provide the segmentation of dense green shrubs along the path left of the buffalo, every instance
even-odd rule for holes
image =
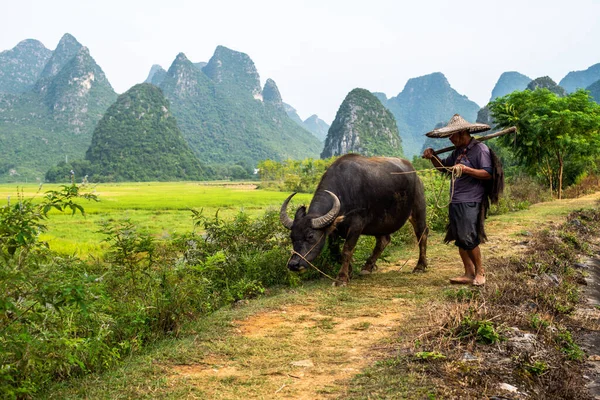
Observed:
[[[186,319],[296,282],[282,262],[289,239],[275,211],[256,220],[239,213],[232,222],[195,212],[204,234],[165,242],[128,220],[106,221],[102,259],[64,257],[42,246],[37,233],[47,212],[83,212],[73,202],[83,196],[72,185],[37,204],[21,198],[20,206],[1,209],[0,391],[9,398],[111,367],[176,335]]]

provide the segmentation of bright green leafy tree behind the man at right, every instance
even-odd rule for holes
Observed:
[[[517,127],[516,136],[499,142],[551,192],[556,187],[559,199],[564,183],[573,183],[600,153],[600,106],[585,90],[564,97],[547,89],[513,92],[490,103],[490,110],[498,128]]]

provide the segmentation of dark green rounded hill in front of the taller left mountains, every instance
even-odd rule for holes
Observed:
[[[94,182],[201,180],[192,153],[156,86],[144,83],[120,95],[98,122],[86,152]]]

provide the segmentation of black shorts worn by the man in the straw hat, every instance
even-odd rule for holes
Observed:
[[[465,250],[479,246],[479,211],[481,203],[450,203],[448,208],[448,236]]]

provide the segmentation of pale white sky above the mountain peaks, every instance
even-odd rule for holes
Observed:
[[[600,62],[600,0],[0,0],[0,10],[0,51],[24,39],[54,50],[70,33],[118,93],[179,52],[208,61],[226,46],[302,119],[329,124],[356,87],[390,98],[442,72],[483,106],[502,72],[558,83]]]

